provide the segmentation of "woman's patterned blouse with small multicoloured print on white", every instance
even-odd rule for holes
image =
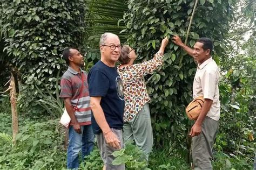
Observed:
[[[144,76],[163,65],[163,56],[163,53],[157,52],[149,61],[124,68],[118,66],[117,70],[123,81],[125,94],[124,122],[130,121],[143,108],[144,104],[150,101]]]

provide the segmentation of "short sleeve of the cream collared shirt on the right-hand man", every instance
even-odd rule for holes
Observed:
[[[219,76],[214,70],[206,70],[201,80],[204,98],[213,100],[216,86],[218,86]]]

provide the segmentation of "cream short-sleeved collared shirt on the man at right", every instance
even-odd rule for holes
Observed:
[[[213,101],[206,116],[215,121],[220,118],[219,78],[219,68],[215,61],[210,58],[197,67],[193,82],[193,98],[204,96],[204,98]]]

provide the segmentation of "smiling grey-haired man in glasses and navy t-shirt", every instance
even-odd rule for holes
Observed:
[[[92,128],[104,161],[103,169],[122,170],[124,164],[112,165],[112,153],[123,148],[124,93],[115,66],[120,56],[120,40],[116,34],[104,33],[99,46],[101,58],[88,75]]]

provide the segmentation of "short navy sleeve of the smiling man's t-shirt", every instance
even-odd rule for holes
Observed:
[[[91,97],[106,96],[109,90],[109,79],[99,70],[91,70],[88,75],[89,93]]]

